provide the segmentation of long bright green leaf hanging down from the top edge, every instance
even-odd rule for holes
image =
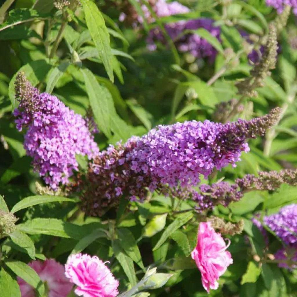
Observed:
[[[113,81],[110,38],[104,18],[97,5],[89,0],[83,1],[83,10],[85,12],[86,24],[98,50],[99,57],[107,71],[108,77]]]

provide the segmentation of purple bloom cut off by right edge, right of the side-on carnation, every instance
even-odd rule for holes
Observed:
[[[284,206],[277,214],[264,217],[263,222],[285,244],[297,247],[297,204]]]

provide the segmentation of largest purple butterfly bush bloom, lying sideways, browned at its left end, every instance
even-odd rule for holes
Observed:
[[[146,188],[163,192],[168,186],[189,187],[240,160],[249,151],[247,139],[264,135],[279,115],[279,108],[250,121],[234,123],[186,121],[159,125],[142,137],[132,137],[100,152],[92,162],[82,209],[96,215],[117,204],[122,195],[146,198]],[[195,195],[197,199],[197,195]]]

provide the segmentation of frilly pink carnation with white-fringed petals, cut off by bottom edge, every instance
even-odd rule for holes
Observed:
[[[87,254],[69,256],[65,275],[78,287],[75,293],[83,297],[115,297],[119,282],[98,257]]]

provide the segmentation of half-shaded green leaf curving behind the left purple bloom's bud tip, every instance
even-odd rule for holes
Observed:
[[[36,60],[24,65],[18,70],[18,72],[23,71],[30,83],[33,86],[36,86],[38,83],[45,80],[50,68],[51,66],[46,61]],[[12,77],[8,86],[8,96],[13,107],[17,106],[17,103],[15,102],[15,78],[18,72],[16,72]]]

